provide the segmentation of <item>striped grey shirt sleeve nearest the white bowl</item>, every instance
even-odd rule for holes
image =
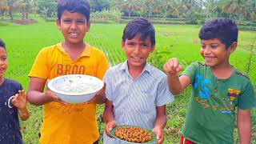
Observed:
[[[107,70],[104,75],[103,82],[106,82],[106,98],[110,101],[113,101],[113,90],[112,90],[112,72]]]

